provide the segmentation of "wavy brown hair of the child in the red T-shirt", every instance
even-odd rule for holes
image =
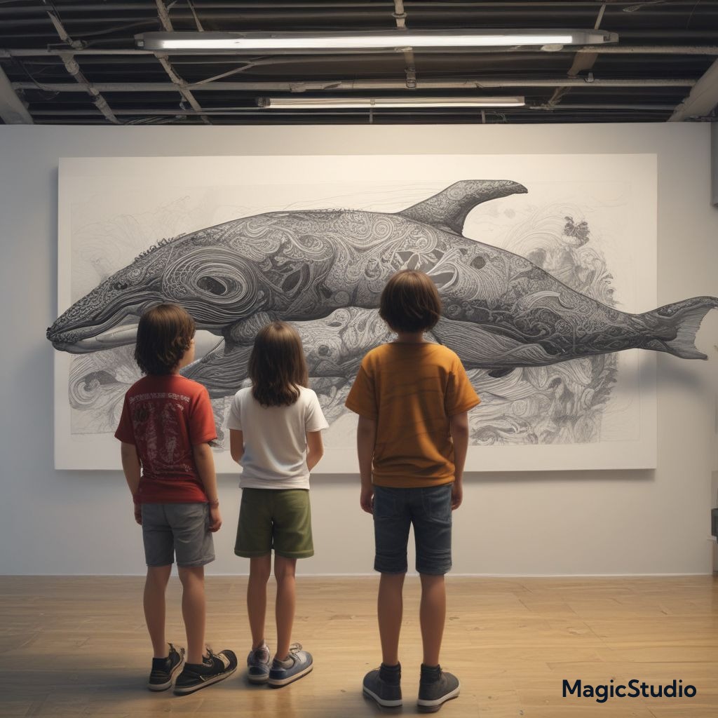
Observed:
[[[195,336],[195,320],[177,304],[148,309],[137,326],[135,361],[144,374],[171,374]]]

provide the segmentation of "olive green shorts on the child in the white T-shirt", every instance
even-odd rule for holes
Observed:
[[[234,552],[286,559],[314,556],[308,489],[242,489]]]

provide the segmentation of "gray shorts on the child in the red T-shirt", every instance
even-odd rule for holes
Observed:
[[[142,539],[148,566],[204,566],[215,560],[206,503],[143,503]]]

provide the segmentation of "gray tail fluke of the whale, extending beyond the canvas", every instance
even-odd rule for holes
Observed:
[[[718,309],[718,297],[692,297],[641,314],[649,330],[653,330],[642,348],[682,359],[707,359],[696,349],[695,342],[703,317],[711,309]]]

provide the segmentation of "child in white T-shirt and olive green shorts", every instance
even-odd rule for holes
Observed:
[[[276,688],[312,670],[312,656],[299,643],[289,645],[289,639],[297,559],[314,555],[309,472],[324,454],[322,429],[329,424],[317,395],[307,388],[302,340],[288,324],[273,322],[258,332],[248,371],[252,386],[236,393],[227,424],[232,458],[243,467],[234,552],[249,559],[248,679]],[[264,616],[271,549],[277,645],[270,667]]]

